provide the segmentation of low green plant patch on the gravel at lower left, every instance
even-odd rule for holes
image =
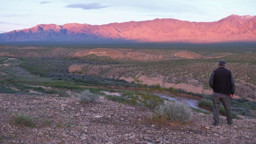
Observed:
[[[18,114],[14,116],[14,125],[30,126],[30,127],[35,126],[31,118],[29,118],[28,116],[24,116],[22,114]]]

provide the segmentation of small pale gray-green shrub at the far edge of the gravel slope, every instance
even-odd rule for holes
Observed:
[[[80,103],[95,103],[99,97],[93,93],[90,93],[89,90],[85,90],[78,95],[78,98]]]

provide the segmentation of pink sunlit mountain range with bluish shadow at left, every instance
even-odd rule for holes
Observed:
[[[163,18],[90,25],[38,24],[0,34],[9,41],[130,41],[130,42],[234,42],[256,41],[256,16],[230,15],[215,22],[189,22]]]

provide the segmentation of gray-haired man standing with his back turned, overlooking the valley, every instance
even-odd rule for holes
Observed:
[[[231,114],[231,98],[235,96],[235,82],[232,75],[228,69],[226,69],[226,62],[224,60],[219,60],[219,68],[212,71],[209,85],[213,89],[213,116],[214,116],[214,125],[219,125],[219,110],[220,110],[220,101],[224,105],[226,111],[227,122],[229,125],[233,123],[232,114]]]

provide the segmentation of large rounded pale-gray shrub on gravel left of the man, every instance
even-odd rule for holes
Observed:
[[[158,105],[154,109],[154,113],[157,120],[167,122],[188,123],[192,119],[192,112],[189,107],[175,102]]]

